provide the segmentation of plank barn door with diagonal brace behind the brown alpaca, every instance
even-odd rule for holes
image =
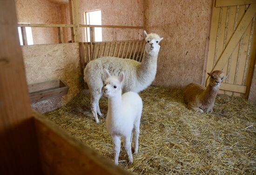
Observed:
[[[228,78],[221,94],[247,95],[256,52],[256,0],[216,0],[213,7],[207,72],[222,70]],[[209,76],[206,76],[206,85]]]

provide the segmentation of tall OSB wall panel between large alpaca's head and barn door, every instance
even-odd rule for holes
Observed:
[[[144,0],[144,27],[163,37],[154,84],[202,82],[211,0]],[[152,13],[154,12],[154,13]]]

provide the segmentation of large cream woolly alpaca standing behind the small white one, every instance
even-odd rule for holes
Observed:
[[[157,57],[160,46],[159,42],[163,39],[158,34],[147,34],[144,31],[146,40],[145,57],[142,62],[131,59],[116,57],[101,57],[90,61],[84,70],[84,81],[87,82],[91,94],[92,112],[96,123],[99,123],[97,112],[102,116],[99,100],[102,96],[103,80],[106,79],[104,69],[112,75],[119,75],[124,72],[126,79],[122,83],[123,92],[140,92],[154,81],[157,67]]]

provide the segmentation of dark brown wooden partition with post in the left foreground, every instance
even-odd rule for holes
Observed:
[[[32,113],[14,0],[0,1],[0,175],[128,175]]]

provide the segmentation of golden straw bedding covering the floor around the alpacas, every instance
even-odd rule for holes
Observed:
[[[211,114],[186,108],[182,90],[149,87],[143,100],[139,152],[128,163],[121,148],[119,164],[134,174],[254,174],[256,105],[243,97],[218,95]],[[111,136],[92,119],[90,95],[79,94],[46,117],[113,160]],[[107,114],[108,99],[102,97]]]

